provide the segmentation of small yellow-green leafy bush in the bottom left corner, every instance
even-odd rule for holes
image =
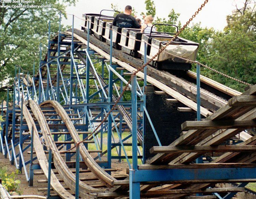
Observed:
[[[7,189],[9,193],[15,191],[18,194],[21,194],[21,181],[15,180],[16,175],[19,174],[19,172],[19,170],[16,170],[15,172],[8,174],[7,169],[5,167],[0,168],[0,178],[2,179],[2,185]]]

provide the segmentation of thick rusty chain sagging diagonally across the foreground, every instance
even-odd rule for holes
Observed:
[[[195,18],[195,16],[202,10],[202,8],[205,6],[205,4],[208,2],[209,0],[205,0],[204,3],[200,6],[200,8],[195,12],[195,14],[189,19],[189,21],[187,21],[187,23],[174,35],[174,37],[165,44],[165,46],[162,49],[159,49],[159,51],[151,58],[149,59],[148,62],[146,62],[145,64],[143,64],[140,68],[138,68],[136,71],[132,72],[132,75],[136,75],[138,72],[140,72],[143,68],[145,68],[145,66],[149,65],[161,52],[163,52],[168,45],[170,45],[170,43],[172,41],[174,41],[179,34],[190,24],[190,22],[193,20],[193,18]],[[132,78],[132,77],[131,77]],[[89,137],[91,137],[101,126],[101,124],[103,124],[103,122],[106,121],[106,119],[108,118],[108,116],[111,114],[111,112],[114,110],[114,108],[116,107],[117,103],[120,101],[121,97],[124,95],[125,91],[127,90],[129,84],[131,83],[131,78],[129,79],[128,83],[126,84],[124,90],[122,91],[122,93],[120,94],[120,96],[118,97],[118,99],[116,100],[115,104],[112,106],[112,108],[110,109],[110,111],[107,113],[107,115],[105,116],[105,118],[101,121],[101,123],[98,125],[98,127],[96,129],[94,129],[94,131],[89,134],[85,139],[83,139],[80,142],[77,142],[75,146],[71,147],[70,149],[66,150],[66,151],[61,151],[60,153],[66,153],[74,148],[76,148],[77,145],[83,143],[84,141],[86,141]]]

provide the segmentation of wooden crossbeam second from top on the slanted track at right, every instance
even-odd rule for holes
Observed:
[[[192,129],[251,129],[254,127],[256,127],[255,120],[185,121],[181,124],[182,131]]]

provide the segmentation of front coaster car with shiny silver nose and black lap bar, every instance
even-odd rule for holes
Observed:
[[[153,24],[153,26],[155,25],[174,26],[177,28],[176,32],[178,32],[178,27],[172,24]],[[165,44],[173,38],[172,35],[175,35],[175,33],[168,32],[152,32],[152,28],[150,35],[142,35],[142,42],[140,50],[138,51],[138,53],[141,54],[141,59],[144,59],[144,41],[152,45],[147,45],[147,62],[155,56],[159,49],[162,49]],[[153,59],[152,65],[157,69],[189,70],[191,69],[191,62],[177,58],[174,55],[195,61],[198,47],[199,43],[177,37],[162,53]]]

